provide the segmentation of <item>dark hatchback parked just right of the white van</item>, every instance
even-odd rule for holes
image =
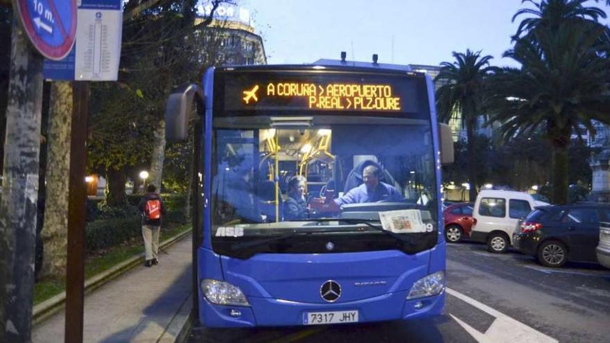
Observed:
[[[547,267],[598,262],[600,222],[609,220],[610,206],[604,204],[539,206],[519,221],[513,246]]]

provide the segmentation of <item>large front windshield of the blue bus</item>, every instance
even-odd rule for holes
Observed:
[[[237,253],[247,242],[250,254],[329,252],[332,240],[345,242],[342,252],[415,253],[436,243],[429,119],[221,116],[214,118],[213,141],[217,252]],[[385,220],[385,213],[416,219]],[[423,229],[410,227],[416,223]],[[397,235],[384,235],[388,226]]]

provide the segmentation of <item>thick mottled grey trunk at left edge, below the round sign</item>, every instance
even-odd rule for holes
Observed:
[[[13,19],[0,200],[0,342],[29,342],[38,199],[42,56]]]

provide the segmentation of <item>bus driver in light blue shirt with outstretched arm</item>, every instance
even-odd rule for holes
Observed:
[[[362,202],[401,201],[403,196],[394,186],[379,181],[381,169],[376,166],[366,166],[363,170],[363,184],[351,188],[342,197],[333,200],[338,206],[358,204]]]

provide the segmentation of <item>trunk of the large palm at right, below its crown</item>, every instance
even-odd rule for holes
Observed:
[[[570,127],[557,127],[555,123],[548,124],[548,137],[552,147],[552,203],[568,203],[568,146],[570,144]]]

